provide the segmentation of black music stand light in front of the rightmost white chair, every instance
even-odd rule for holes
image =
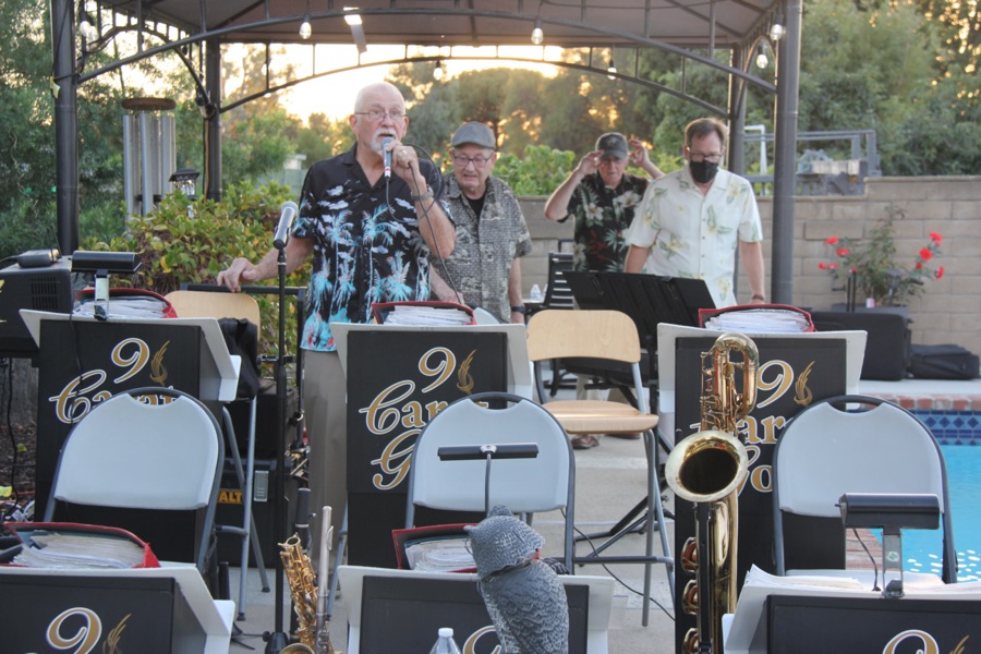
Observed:
[[[846,528],[882,529],[883,597],[903,596],[905,529],[937,529],[940,499],[931,494],[846,493],[838,499]],[[887,580],[886,573],[894,579]]]

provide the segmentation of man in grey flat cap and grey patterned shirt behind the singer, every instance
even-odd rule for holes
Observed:
[[[453,254],[431,258],[433,293],[440,300],[480,306],[501,323],[524,323],[521,262],[532,250],[518,198],[504,181],[491,177],[497,140],[487,125],[468,122],[451,142],[452,172],[446,193],[457,227]]]

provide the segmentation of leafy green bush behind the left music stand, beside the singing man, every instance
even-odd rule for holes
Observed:
[[[129,283],[166,295],[185,282],[214,282],[237,256],[261,259],[269,250],[279,207],[289,198],[289,189],[275,183],[259,189],[231,184],[221,202],[198,199],[189,204],[178,192],[160,201],[152,214],[131,218],[124,235],[108,241],[88,238],[83,247],[137,253],[143,265]],[[306,272],[298,270],[287,278],[287,286],[305,286],[305,279]],[[278,299],[256,295],[256,301],[263,313],[261,340],[267,351],[275,351]],[[295,311],[292,303],[289,311]],[[287,336],[292,351],[295,334]]]

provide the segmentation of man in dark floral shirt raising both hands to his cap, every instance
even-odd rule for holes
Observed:
[[[627,172],[628,160],[652,180],[664,177],[647,156],[644,144],[608,132],[596,148],[580,160],[545,203],[545,217],[565,222],[573,218],[573,267],[577,270],[622,272],[623,241],[633,213],[647,190],[646,178]]]

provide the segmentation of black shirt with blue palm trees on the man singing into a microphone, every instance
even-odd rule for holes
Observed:
[[[376,302],[429,299],[429,249],[409,185],[396,175],[368,184],[356,147],[317,161],[303,182],[292,234],[314,242],[300,343],[306,350],[335,351],[330,324],[370,323]],[[428,186],[440,189],[436,167],[420,167]]]

